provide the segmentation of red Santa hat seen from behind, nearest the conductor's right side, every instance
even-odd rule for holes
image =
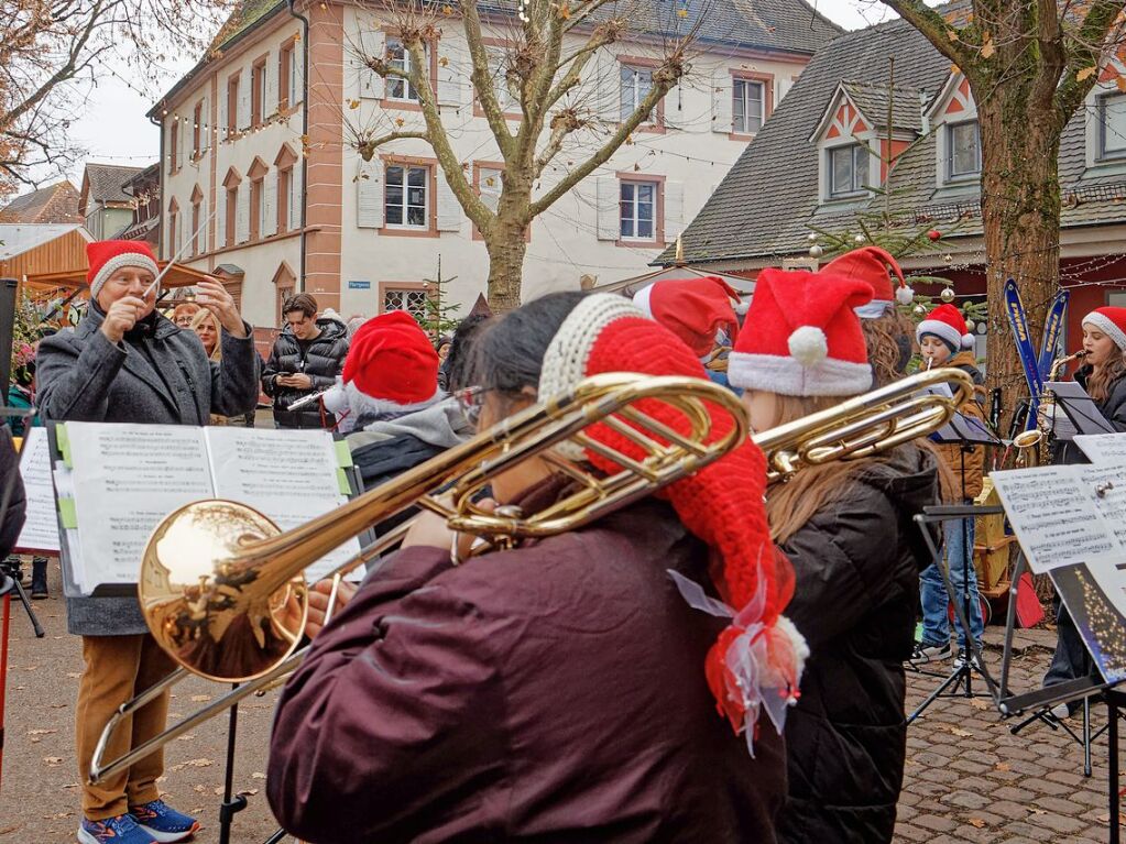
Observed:
[[[421,404],[438,392],[438,353],[414,317],[391,311],[356,330],[343,381],[349,401],[366,396],[399,406]]]

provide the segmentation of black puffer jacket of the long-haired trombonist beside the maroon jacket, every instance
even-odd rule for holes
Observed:
[[[786,721],[792,844],[890,842],[903,784],[903,661],[930,562],[912,518],[939,501],[937,463],[905,446],[846,483],[781,546],[797,578],[786,614],[811,650]]]

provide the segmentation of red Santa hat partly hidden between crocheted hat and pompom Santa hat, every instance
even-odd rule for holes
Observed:
[[[712,352],[720,329],[734,342],[739,320],[733,299],[738,302],[739,294],[715,276],[654,281],[634,294],[634,304],[680,338],[697,358]]]

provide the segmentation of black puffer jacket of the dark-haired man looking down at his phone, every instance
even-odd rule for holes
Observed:
[[[283,428],[321,428],[321,408],[319,403],[307,404],[296,411],[287,411],[291,404],[310,393],[331,387],[345,366],[348,353],[348,329],[338,320],[322,316],[316,321],[321,330],[316,340],[304,348],[293,335],[287,325],[274,341],[274,351],[262,370],[262,392],[274,399],[274,420]],[[313,379],[310,389],[294,389],[275,385],[279,375],[303,372]],[[336,419],[329,414],[325,417],[329,427],[336,424]]]

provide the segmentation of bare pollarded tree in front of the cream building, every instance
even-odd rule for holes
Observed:
[[[352,143],[366,161],[393,141],[417,138],[430,145],[454,196],[484,240],[490,306],[516,307],[527,250],[525,233],[531,221],[631,143],[632,134],[689,73],[689,50],[703,15],[687,23],[674,3],[668,5],[668,20],[656,27],[661,32],[649,33],[659,45],[649,90],[628,114],[606,120],[599,116],[605,108],[599,108],[592,79],[596,56],[626,36],[631,20],[637,19],[633,14],[637,7],[613,0],[520,0],[512,15],[499,16],[495,7],[486,11],[477,0],[376,3],[366,5],[392,25],[396,51],[401,45],[402,53],[372,51],[361,37],[350,50],[385,84],[409,84],[417,92],[422,119],[421,125],[411,126],[385,115],[372,125],[352,122]],[[457,26],[464,33],[467,75],[503,161],[495,207],[474,189],[431,86],[428,51],[443,26]],[[618,109],[617,93],[614,98]]]

